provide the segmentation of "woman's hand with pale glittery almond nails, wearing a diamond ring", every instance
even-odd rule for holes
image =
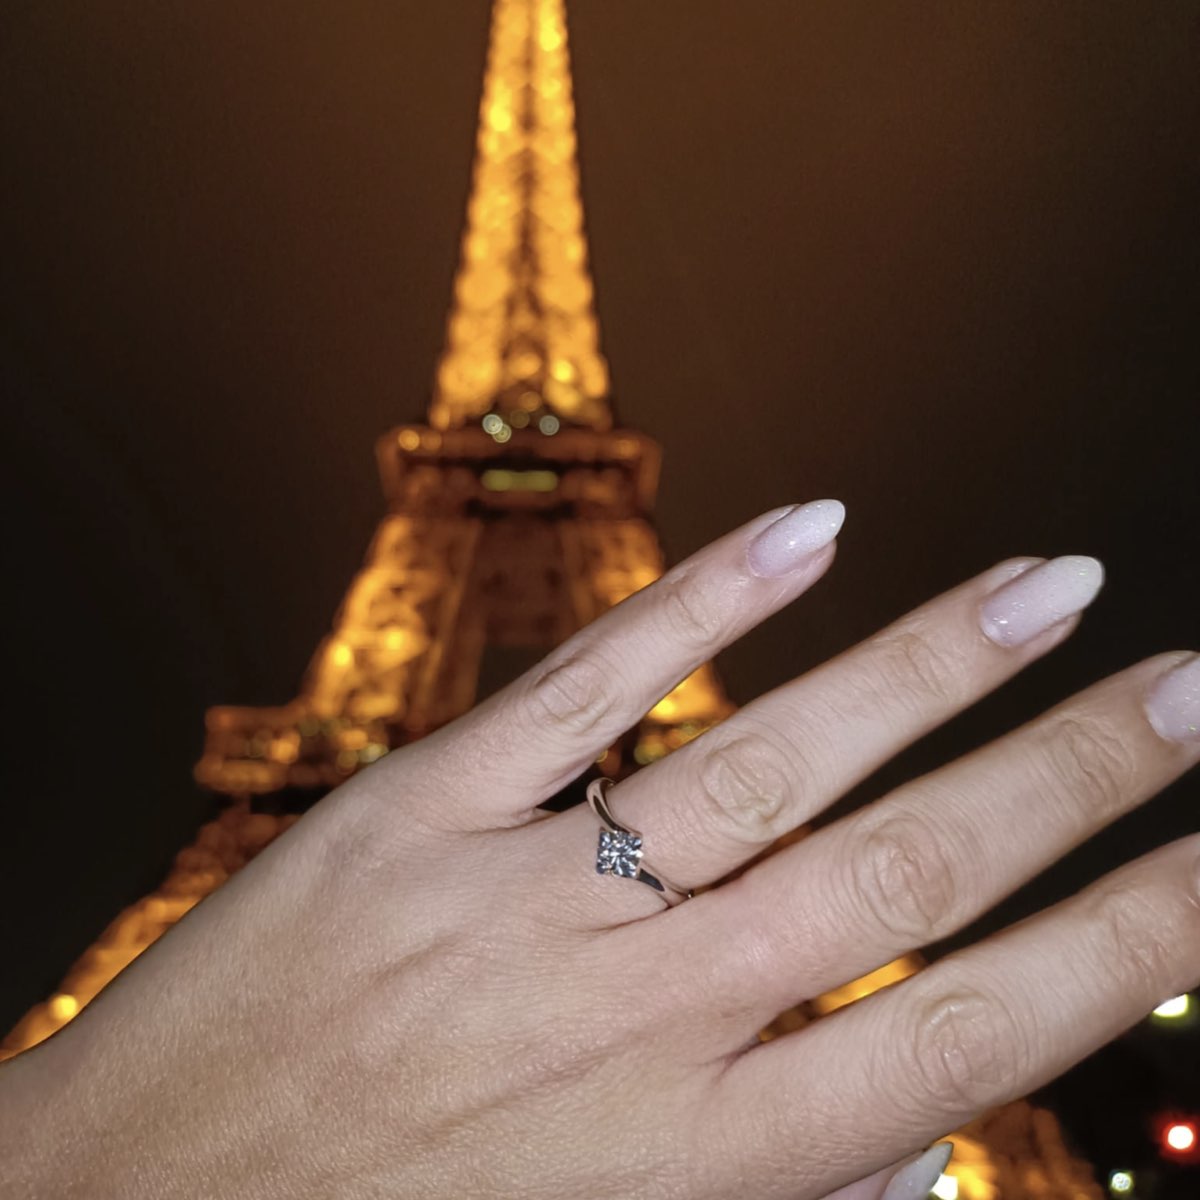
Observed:
[[[586,805],[539,809],[816,582],[840,518],[750,522],[322,800],[0,1072],[5,1196],[877,1200],[902,1156],[1194,986],[1200,836],[755,1040],[1192,767],[1188,654],[676,907],[596,874]],[[1061,642],[1099,583],[1093,559],[1002,563],[617,785],[612,811],[649,870],[712,884]]]

